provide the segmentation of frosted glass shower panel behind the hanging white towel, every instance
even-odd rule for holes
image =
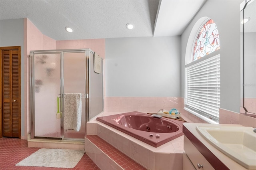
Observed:
[[[64,138],[82,138],[86,134],[85,117],[85,72],[86,60],[85,52],[82,53],[64,53],[63,54],[63,78],[65,93],[82,93],[82,122],[79,132],[75,130],[65,130]],[[64,113],[65,114],[65,113]]]

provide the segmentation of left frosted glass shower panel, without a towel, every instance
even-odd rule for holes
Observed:
[[[34,136],[60,138],[56,119],[60,94],[60,53],[34,55]]]

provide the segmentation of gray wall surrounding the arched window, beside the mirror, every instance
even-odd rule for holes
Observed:
[[[242,0],[208,0],[181,38],[181,95],[184,97],[184,63],[190,32],[198,19],[210,17],[220,35],[220,107],[239,113],[240,107],[240,3]]]

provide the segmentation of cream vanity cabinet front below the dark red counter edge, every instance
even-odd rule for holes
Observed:
[[[184,135],[183,170],[214,170],[197,148]],[[201,167],[202,166],[202,167]]]

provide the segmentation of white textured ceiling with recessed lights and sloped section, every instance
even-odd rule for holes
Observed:
[[[176,36],[204,1],[0,0],[0,19],[28,18],[54,40]],[[127,30],[127,23],[135,28]]]

